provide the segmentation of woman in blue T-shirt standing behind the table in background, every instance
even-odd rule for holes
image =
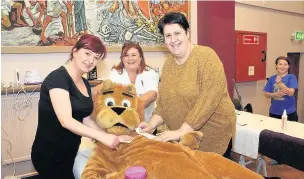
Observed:
[[[290,62],[287,57],[280,56],[275,61],[277,74],[267,81],[264,87],[265,96],[271,98],[269,116],[281,119],[286,110],[289,121],[298,121],[295,90],[298,89],[297,78],[288,74]]]

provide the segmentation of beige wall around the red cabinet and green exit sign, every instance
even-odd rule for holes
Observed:
[[[254,3],[254,2],[253,2]],[[268,4],[270,2],[267,2]],[[294,3],[271,2],[272,7],[281,7],[291,10]],[[260,3],[261,4],[261,3]],[[291,34],[296,30],[304,31],[304,2],[298,2],[299,8],[296,11],[302,13],[286,12],[282,9],[275,10],[266,7],[258,7],[243,3],[236,3],[235,8],[235,29],[244,31],[266,32],[267,33],[267,64],[266,77],[275,74],[275,59],[278,56],[287,56],[288,52],[304,52],[304,42],[290,40]],[[261,5],[262,6],[262,5]],[[303,58],[302,58],[303,59]],[[300,74],[303,74],[304,60],[300,61]],[[299,75],[299,102],[303,98],[304,84]],[[304,78],[302,76],[302,78]],[[238,83],[240,95],[244,104],[252,103],[254,112],[268,115],[270,101],[263,96],[263,87],[266,80],[257,82]],[[302,90],[301,90],[302,89]],[[301,104],[302,105],[302,104]],[[300,107],[302,110],[303,107]],[[302,111],[298,111],[301,115]],[[302,117],[303,118],[303,117]]]

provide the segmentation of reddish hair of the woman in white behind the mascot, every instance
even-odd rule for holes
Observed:
[[[126,42],[126,43],[124,43],[124,45],[122,46],[122,49],[121,49],[120,63],[118,65],[114,65],[112,67],[112,69],[117,70],[120,74],[122,73],[122,70],[124,68],[124,64],[122,62],[122,58],[127,54],[127,52],[131,48],[135,48],[138,51],[139,56],[141,57],[140,66],[139,66],[139,69],[137,70],[137,74],[140,74],[144,70],[147,70],[146,68],[149,67],[149,66],[146,65],[146,61],[145,61],[145,57],[144,57],[144,52],[143,52],[142,48],[140,47],[140,45],[138,43],[136,43],[136,42]]]

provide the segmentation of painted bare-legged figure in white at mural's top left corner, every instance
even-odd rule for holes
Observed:
[[[12,14],[12,9],[16,9],[16,14]],[[11,17],[10,17],[11,15]],[[22,4],[20,2],[14,2],[12,0],[1,0],[1,26],[9,28],[12,26],[12,20],[16,19],[16,26],[26,26],[21,20]],[[16,17],[17,16],[17,17]]]

